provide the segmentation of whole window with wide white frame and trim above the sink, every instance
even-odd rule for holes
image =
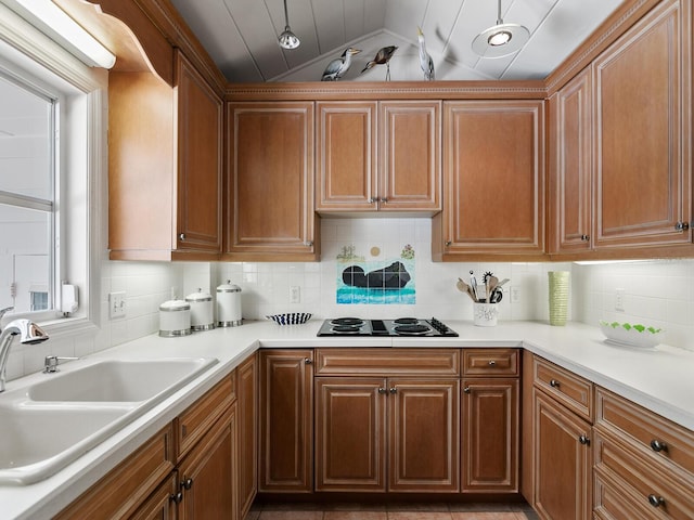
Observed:
[[[16,308],[0,326],[30,317],[55,338],[100,324],[108,76],[42,30],[0,0],[0,309]]]

